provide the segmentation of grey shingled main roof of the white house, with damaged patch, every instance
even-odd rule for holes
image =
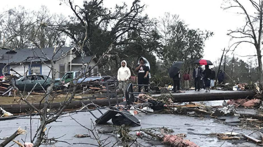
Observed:
[[[54,56],[54,60],[60,58],[63,54],[67,53],[73,47],[57,47],[56,48],[56,55]],[[46,54],[46,56],[51,59],[54,52],[54,47],[51,48],[42,48],[42,51]],[[16,49],[16,50],[9,50],[9,49],[1,49],[0,50],[0,63],[7,64],[11,62],[19,63],[19,62],[31,62],[32,58],[28,57],[43,57],[41,58],[42,61],[46,61],[44,59],[44,55],[42,54],[39,48],[35,49]],[[28,59],[27,59],[28,58]],[[34,62],[40,62],[39,58],[34,59]]]

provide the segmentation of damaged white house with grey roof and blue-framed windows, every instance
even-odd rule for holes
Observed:
[[[42,48],[42,51],[49,59],[52,59],[55,48]],[[74,47],[56,48],[56,54],[53,57],[55,62],[56,78],[61,78],[69,71],[80,71],[82,67],[82,57]],[[85,70],[92,68],[97,58],[91,56],[84,57]],[[8,64],[7,66],[5,66]],[[27,75],[41,74],[50,76],[51,64],[48,59],[42,54],[41,49],[2,49],[0,50],[0,76],[3,76],[2,71],[10,74]],[[13,70],[10,70],[13,69]],[[98,66],[94,67],[88,74],[96,75]]]

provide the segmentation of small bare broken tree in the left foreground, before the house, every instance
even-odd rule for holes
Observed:
[[[46,130],[46,125],[47,124],[50,124],[54,121],[56,121],[56,119],[58,119],[61,115],[63,115],[63,111],[67,108],[67,106],[71,103],[71,101],[73,100],[75,94],[77,93],[77,88],[81,85],[81,83],[77,83],[75,82],[75,84],[72,85],[72,93],[69,95],[69,98],[66,99],[64,101],[64,103],[61,105],[61,107],[59,107],[57,110],[55,110],[54,114],[49,114],[48,113],[48,108],[51,106],[51,103],[52,101],[54,100],[54,98],[56,98],[58,96],[59,93],[56,93],[57,89],[59,87],[54,87],[54,83],[55,83],[55,74],[56,74],[56,69],[54,67],[54,63],[58,60],[60,60],[61,58],[64,58],[66,56],[63,55],[62,57],[60,58],[55,58],[54,59],[54,56],[56,55],[56,53],[58,53],[58,51],[60,50],[60,47],[56,47],[55,46],[55,50],[53,52],[53,57],[52,58],[49,58],[45,53],[44,51],[42,50],[41,46],[38,44],[39,42],[34,42],[34,38],[37,36],[38,32],[41,31],[41,27],[42,25],[45,25],[43,23],[41,23],[37,28],[36,28],[36,31],[35,33],[33,34],[33,39],[30,40],[31,42],[33,42],[33,44],[35,46],[37,46],[41,52],[42,52],[42,55],[38,55],[38,56],[35,56],[35,57],[28,57],[27,61],[28,60],[34,60],[36,58],[39,58],[41,60],[41,62],[43,64],[46,64],[46,62],[49,62],[50,63],[50,66],[47,66],[50,68],[50,73],[51,73],[51,77],[52,77],[52,80],[51,80],[51,86],[50,87],[53,87],[53,88],[50,88],[48,89],[47,92],[45,92],[45,95],[43,96],[43,98],[41,99],[41,101],[39,102],[39,108],[41,108],[41,105],[44,105],[44,109],[40,110],[40,109],[37,109],[36,107],[34,107],[34,105],[32,105],[29,101],[27,101],[27,97],[30,95],[30,93],[34,90],[34,87],[33,89],[31,90],[31,92],[27,95],[27,96],[24,96],[23,92],[21,92],[15,85],[15,83],[12,81],[12,76],[6,76],[6,78],[10,81],[10,83],[12,84],[12,86],[15,88],[15,90],[18,92],[19,94],[19,97],[22,101],[24,101],[25,103],[27,103],[27,105],[29,105],[34,111],[38,112],[39,115],[40,115],[40,126],[39,128],[37,129],[37,133],[35,134],[35,136],[33,137],[32,141],[35,140],[34,142],[34,147],[38,147],[42,144],[42,141],[45,137],[45,130]],[[85,33],[87,35],[87,32]],[[56,40],[59,40],[56,38]],[[86,40],[86,37],[85,37],[85,40]],[[85,40],[83,40],[82,42],[85,42]],[[83,52],[83,44],[76,44],[76,46],[78,47],[78,51],[80,52]],[[96,65],[98,65],[100,62],[101,62],[101,59],[108,53],[108,51],[111,49],[111,46],[108,47],[108,49],[105,51],[105,53],[103,54],[103,56],[98,60],[98,62],[89,70],[87,70],[86,72],[84,72],[84,70],[82,69],[81,71],[81,74],[79,74],[76,78],[74,78],[72,81],[76,81],[78,80],[79,78],[82,78],[86,75],[86,73],[90,72],[94,67],[96,67]],[[84,56],[83,53],[81,53],[82,56]],[[40,57],[41,56],[41,57]],[[46,62],[44,62],[46,61]],[[6,64],[7,66],[8,64]],[[84,63],[82,63],[82,65],[84,65]],[[83,67],[83,66],[82,66]],[[68,83],[72,82],[72,81],[69,81]],[[66,83],[67,84],[67,83]],[[52,94],[51,96],[51,93],[54,93],[55,94]],[[35,139],[36,138],[36,139]]]

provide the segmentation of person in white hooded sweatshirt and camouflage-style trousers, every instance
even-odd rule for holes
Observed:
[[[129,83],[129,78],[131,77],[131,71],[127,67],[127,63],[125,60],[121,62],[122,67],[119,68],[118,70],[118,81],[119,81],[119,89],[120,92],[124,95],[125,97],[125,89],[127,84]]]

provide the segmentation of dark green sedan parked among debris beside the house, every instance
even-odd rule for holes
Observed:
[[[25,78],[22,77],[15,81],[15,85],[18,87],[19,90],[30,91],[34,90],[49,90],[51,85],[51,78],[45,75],[28,75]]]

